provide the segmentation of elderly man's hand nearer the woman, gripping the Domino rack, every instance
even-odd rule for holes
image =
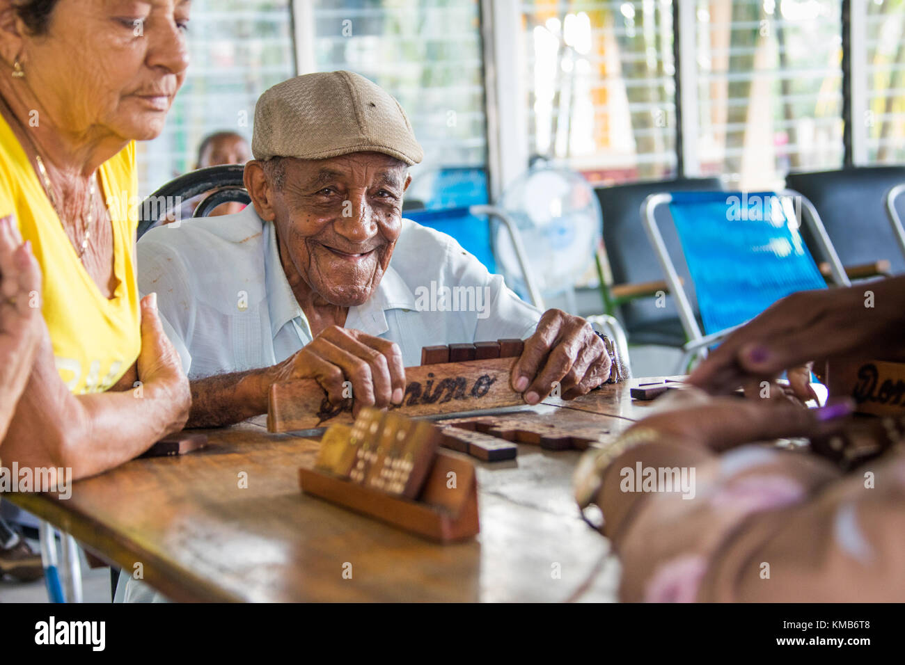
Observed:
[[[342,404],[351,394],[354,414],[363,406],[384,409],[402,404],[405,394],[405,366],[399,346],[339,326],[325,328],[309,345],[273,366],[266,378],[268,385],[315,379],[331,404]]]

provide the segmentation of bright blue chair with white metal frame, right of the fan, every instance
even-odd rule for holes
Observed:
[[[800,204],[805,214],[800,214],[795,204]],[[654,216],[660,205],[669,207],[681,241],[681,257],[671,257],[663,242]],[[776,300],[795,291],[826,288],[799,233],[801,217],[829,261],[834,282],[848,286],[819,216],[810,202],[795,192],[674,192],[644,200],[644,229],[689,339],[682,348],[683,361],[695,354],[706,355],[707,347]],[[683,288],[675,261],[684,262],[691,292]]]

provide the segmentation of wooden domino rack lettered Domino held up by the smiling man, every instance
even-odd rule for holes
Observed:
[[[405,368],[405,397],[394,410],[409,417],[525,404],[510,386],[515,358],[489,358]],[[352,423],[351,400],[334,406],[313,379],[271,385],[270,432]]]

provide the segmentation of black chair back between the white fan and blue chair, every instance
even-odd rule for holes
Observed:
[[[660,192],[721,191],[719,178],[680,178],[633,185],[597,187],[604,219],[604,243],[615,284],[637,284],[662,280],[663,274],[651,242],[644,233],[641,204],[648,195]],[[662,215],[662,218],[661,218]],[[676,235],[666,206],[657,211],[663,241],[673,257],[681,257],[681,243]],[[677,265],[677,269],[681,268]],[[686,283],[689,283],[686,280]],[[681,347],[685,333],[672,298],[667,296],[665,307],[657,307],[656,298],[641,298],[622,305],[622,315],[631,344],[656,344]]]

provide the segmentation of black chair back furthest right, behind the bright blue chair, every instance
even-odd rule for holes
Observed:
[[[786,186],[814,204],[843,266],[887,259],[893,274],[905,273],[905,257],[884,205],[890,188],[903,182],[905,166],[854,166],[786,176]],[[815,246],[806,227],[802,235],[808,246]]]

